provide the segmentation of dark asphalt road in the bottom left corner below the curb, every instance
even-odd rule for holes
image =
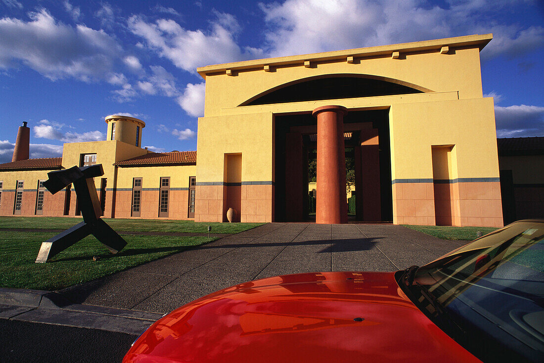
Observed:
[[[111,331],[0,319],[0,361],[120,362],[136,338]]]

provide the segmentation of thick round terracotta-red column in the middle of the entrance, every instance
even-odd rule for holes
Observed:
[[[342,106],[313,110],[317,118],[317,200],[316,223],[348,222],[345,195],[344,115]]]

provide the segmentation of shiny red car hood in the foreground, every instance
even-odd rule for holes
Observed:
[[[220,290],[159,319],[126,362],[471,362],[393,273],[276,276]]]

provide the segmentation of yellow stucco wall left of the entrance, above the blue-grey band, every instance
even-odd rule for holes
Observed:
[[[271,181],[271,113],[199,118],[196,182],[224,181],[225,153],[242,153],[242,181]]]

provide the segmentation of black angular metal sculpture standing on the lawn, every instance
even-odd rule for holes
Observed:
[[[102,164],[83,168],[72,167],[47,173],[49,179],[44,182],[44,187],[51,194],[55,194],[73,183],[74,189],[76,189],[79,210],[83,215],[83,222],[42,242],[36,262],[47,262],[60,251],[89,235],[95,236],[113,254],[118,253],[126,246],[127,242],[112,227],[100,219],[102,210],[92,178],[102,175],[104,175]]]

